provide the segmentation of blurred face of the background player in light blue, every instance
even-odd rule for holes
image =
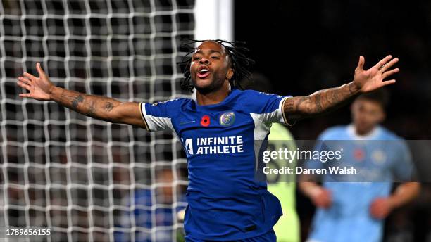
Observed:
[[[380,103],[358,99],[351,106],[351,115],[359,134],[367,134],[376,125],[385,120],[385,110]]]

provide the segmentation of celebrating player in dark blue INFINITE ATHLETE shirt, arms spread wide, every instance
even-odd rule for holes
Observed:
[[[282,211],[266,184],[254,179],[256,160],[264,149],[259,144],[265,144],[255,141],[268,139],[273,122],[294,124],[360,93],[393,84],[394,79],[384,79],[399,71],[389,70],[398,58],[387,56],[364,70],[361,56],[352,82],[289,97],[236,89],[237,80],[250,75],[253,63],[244,51],[237,43],[201,42],[186,61],[184,81],[185,87],[196,89],[196,100],[150,104],[82,94],[54,86],[39,63],[39,77],[24,73],[18,85],[30,91],[21,97],[56,101],[108,122],[175,132],[188,160],[187,241],[275,241],[272,228]]]

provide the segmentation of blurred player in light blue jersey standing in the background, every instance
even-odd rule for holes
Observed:
[[[339,182],[332,180],[331,174],[324,174],[320,186],[313,182],[316,174],[301,174],[304,182],[299,188],[318,208],[309,242],[381,241],[385,217],[418,195],[417,182],[402,183],[391,194],[392,182],[386,178],[411,180],[413,164],[404,140],[380,126],[385,120],[386,103],[384,89],[362,94],[351,105],[351,125],[331,127],[320,134],[318,141],[343,148],[337,163],[361,167],[380,179]],[[323,166],[318,160],[307,161],[307,168]]]

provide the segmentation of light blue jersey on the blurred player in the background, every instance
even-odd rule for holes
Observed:
[[[392,181],[395,177],[406,180],[411,175],[408,147],[399,136],[383,127],[375,127],[367,136],[358,136],[353,125],[332,127],[318,140],[339,141],[343,144],[339,162],[364,169],[371,177]],[[308,168],[324,166],[320,162],[307,164]],[[330,174],[322,177],[323,186],[332,193],[332,205],[316,210],[309,241],[381,241],[383,220],[370,215],[370,205],[375,198],[389,196],[392,182],[338,182],[334,178]]]

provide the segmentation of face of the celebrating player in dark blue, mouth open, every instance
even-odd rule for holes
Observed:
[[[233,75],[224,47],[211,41],[198,46],[192,56],[190,75],[194,87],[201,94],[220,89]]]

